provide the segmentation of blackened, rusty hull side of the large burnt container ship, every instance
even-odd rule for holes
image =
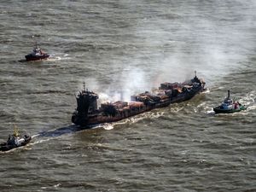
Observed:
[[[115,116],[104,116],[101,114],[91,114],[84,118],[83,116],[79,116],[77,113],[73,113],[72,116],[72,122],[75,125],[81,125],[81,126],[90,126],[90,125],[98,125],[98,124],[104,124],[104,123],[111,123],[111,122],[116,122],[122,119],[129,118],[131,116],[135,116],[140,113],[146,113],[148,111],[153,110],[154,108],[166,108],[172,103],[177,103],[177,102],[184,102],[189,99],[191,99],[193,96],[196,94],[202,92],[204,90],[204,87],[201,86],[198,89],[192,91],[191,93],[186,93],[181,96],[177,96],[172,99],[166,99],[165,101],[156,103],[155,105],[152,106],[144,106],[143,108],[140,108],[139,110],[136,111],[131,111],[129,113],[122,113],[122,114],[117,114]]]

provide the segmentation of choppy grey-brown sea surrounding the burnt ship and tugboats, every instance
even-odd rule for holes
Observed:
[[[0,1],[0,153],[5,191],[256,191],[256,2]],[[32,38],[34,37],[34,38]],[[35,41],[48,61],[20,62]],[[83,82],[102,102],[194,71],[187,102],[90,130],[71,123]],[[214,115],[231,97],[246,111]]]

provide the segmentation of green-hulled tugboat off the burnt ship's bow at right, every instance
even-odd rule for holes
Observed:
[[[230,99],[230,90],[228,90],[228,96],[224,99],[224,102],[220,106],[213,108],[213,111],[215,113],[235,113],[245,109],[247,109],[245,105]]]

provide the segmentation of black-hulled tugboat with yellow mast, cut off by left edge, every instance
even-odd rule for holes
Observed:
[[[13,135],[9,135],[7,142],[0,143],[0,151],[9,151],[13,148],[19,148],[21,146],[25,146],[27,143],[30,143],[32,137],[25,135],[24,137],[20,137],[20,134],[15,126],[15,131]]]

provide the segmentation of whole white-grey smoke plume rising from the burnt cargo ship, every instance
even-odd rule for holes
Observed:
[[[111,39],[121,50],[108,52],[108,59],[114,61],[106,67],[109,71],[119,67],[119,72],[111,73],[104,87],[102,82],[96,83],[102,77],[86,80],[104,101],[129,101],[131,95],[157,88],[162,82],[191,79],[195,70],[209,86],[242,67],[247,55],[252,55],[253,1],[165,3],[125,4],[127,12],[122,9],[122,14],[132,25],[127,23],[130,28],[125,32],[119,28],[119,40]],[[131,16],[131,10],[135,15]]]

